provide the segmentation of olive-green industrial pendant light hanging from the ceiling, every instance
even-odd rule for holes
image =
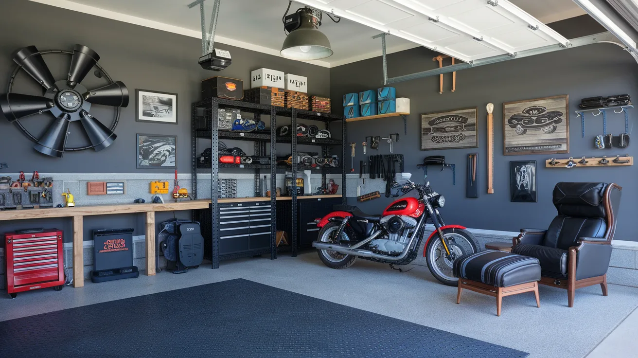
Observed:
[[[309,61],[332,56],[330,41],[318,27],[321,12],[311,8],[300,8],[285,16],[284,27],[288,31],[281,47],[281,56],[288,59]]]

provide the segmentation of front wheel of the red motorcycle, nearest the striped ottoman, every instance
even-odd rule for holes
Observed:
[[[445,248],[443,248],[441,238],[438,234],[434,234],[430,241],[427,242],[427,268],[430,269],[432,276],[434,276],[436,280],[448,286],[456,286],[458,285],[459,279],[454,277],[454,272],[452,272],[454,260],[468,253],[479,252],[479,242],[476,241],[467,230],[446,228],[442,231],[443,237],[449,242],[448,248],[452,253],[452,258],[448,258],[445,255]]]

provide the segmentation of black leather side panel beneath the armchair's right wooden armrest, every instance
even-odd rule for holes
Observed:
[[[580,245],[570,248],[570,250],[575,249],[576,253],[576,280],[602,276],[607,273],[612,246],[607,241],[600,240],[602,239],[581,237],[579,239]]]

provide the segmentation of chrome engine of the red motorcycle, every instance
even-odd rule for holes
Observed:
[[[410,232],[417,227],[417,220],[407,215],[388,215],[379,221],[385,229],[381,239],[370,241],[369,246],[378,253],[389,255],[401,255],[408,241]]]

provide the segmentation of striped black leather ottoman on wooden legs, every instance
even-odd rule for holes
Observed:
[[[480,251],[454,260],[454,276],[459,278],[456,303],[461,303],[463,288],[496,297],[496,315],[501,315],[503,297],[534,292],[536,305],[540,264],[538,259],[496,250]]]

